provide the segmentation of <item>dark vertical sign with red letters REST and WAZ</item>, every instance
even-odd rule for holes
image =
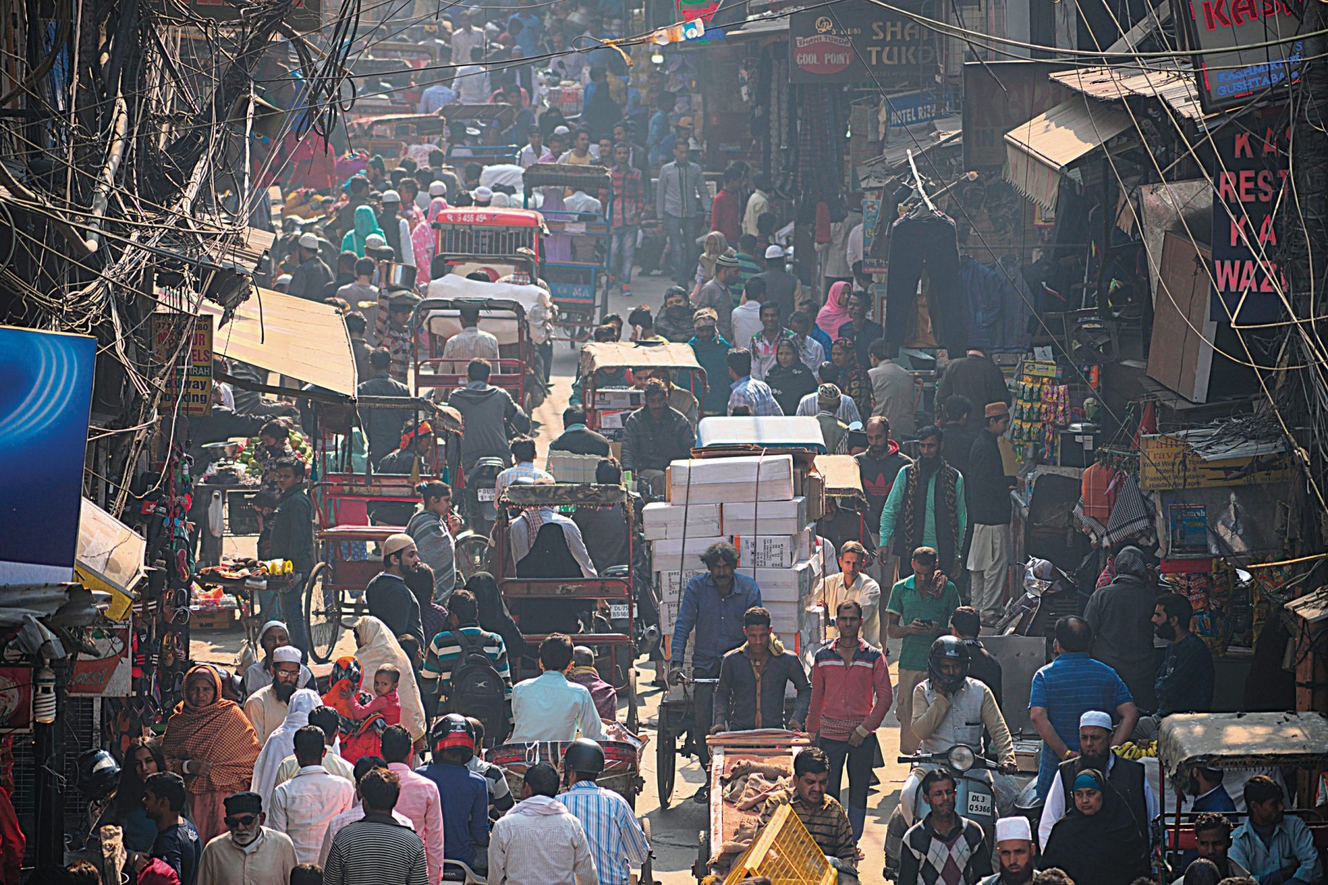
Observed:
[[[1240,326],[1276,322],[1284,316],[1288,289],[1276,259],[1282,240],[1278,211],[1293,200],[1288,190],[1289,138],[1284,117],[1276,113],[1212,134],[1214,322]]]

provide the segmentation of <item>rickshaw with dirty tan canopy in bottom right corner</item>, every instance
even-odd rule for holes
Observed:
[[[1161,815],[1153,827],[1154,844],[1162,847],[1158,881],[1163,885],[1185,873],[1182,854],[1197,851],[1198,813],[1190,811],[1195,768],[1223,772],[1222,789],[1238,808],[1236,813],[1227,813],[1234,825],[1246,820],[1244,782],[1252,775],[1270,775],[1280,782],[1287,816],[1305,823],[1323,862],[1328,852],[1328,821],[1321,815],[1328,719],[1321,714],[1177,713],[1162,719],[1155,752]]]

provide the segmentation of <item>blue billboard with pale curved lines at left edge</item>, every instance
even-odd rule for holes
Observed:
[[[96,352],[0,326],[0,584],[73,579]]]

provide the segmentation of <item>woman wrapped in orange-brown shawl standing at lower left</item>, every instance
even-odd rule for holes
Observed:
[[[166,720],[162,754],[166,767],[189,787],[194,825],[203,844],[227,832],[222,800],[248,789],[259,750],[254,726],[239,705],[222,698],[216,670],[207,665],[193,667],[185,677],[185,699]]]

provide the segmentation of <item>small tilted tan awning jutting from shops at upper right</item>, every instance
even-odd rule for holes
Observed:
[[[1054,210],[1061,175],[1130,126],[1123,110],[1074,96],[1005,133],[1005,180]]]

